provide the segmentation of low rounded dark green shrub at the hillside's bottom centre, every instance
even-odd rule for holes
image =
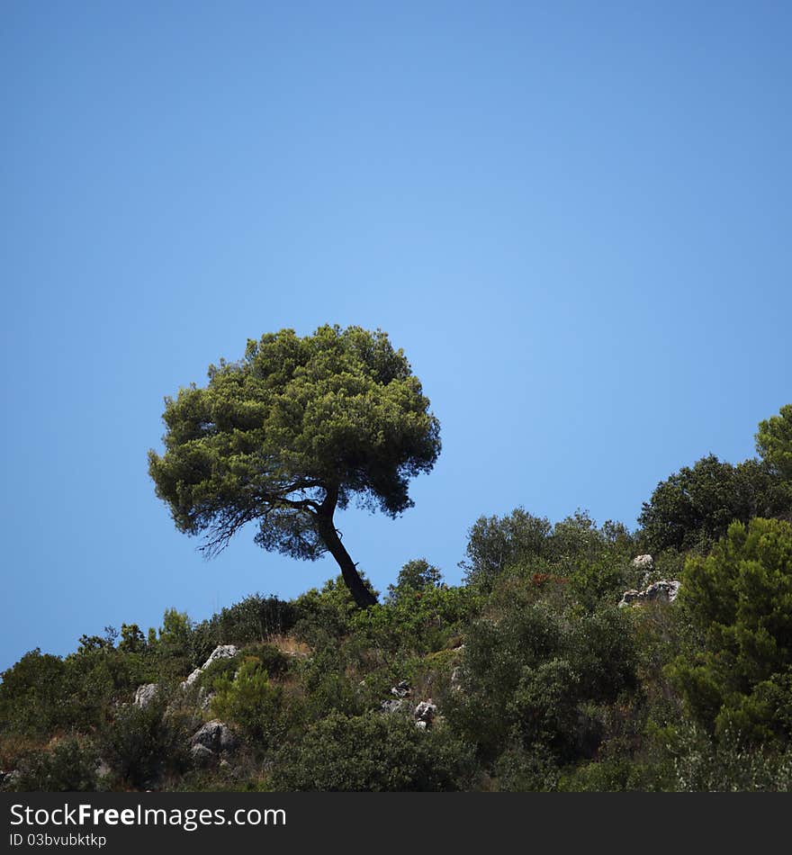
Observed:
[[[353,792],[464,788],[473,776],[470,750],[447,729],[420,731],[402,716],[333,713],[280,753],[277,790]]]

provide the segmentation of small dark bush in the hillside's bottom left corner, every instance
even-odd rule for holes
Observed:
[[[69,737],[52,751],[28,754],[14,782],[18,792],[91,792],[99,787],[99,755],[93,743]]]

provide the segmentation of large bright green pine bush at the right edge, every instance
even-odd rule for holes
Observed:
[[[703,639],[671,675],[698,722],[761,742],[792,736],[792,526],[734,523],[706,558],[689,559],[680,592]]]

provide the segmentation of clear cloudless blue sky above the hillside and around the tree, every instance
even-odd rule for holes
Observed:
[[[162,399],[247,338],[387,330],[442,424],[383,590],[524,505],[635,527],[792,401],[786,3],[3,4],[0,668],[292,597],[148,480]]]

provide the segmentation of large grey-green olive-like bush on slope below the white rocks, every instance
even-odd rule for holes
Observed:
[[[632,635],[616,608],[593,615],[560,611],[530,591],[520,598],[509,590],[496,614],[470,627],[464,691],[446,715],[484,761],[507,751],[545,752],[540,765],[546,771],[547,757],[561,764],[596,750],[598,705],[635,687]]]

